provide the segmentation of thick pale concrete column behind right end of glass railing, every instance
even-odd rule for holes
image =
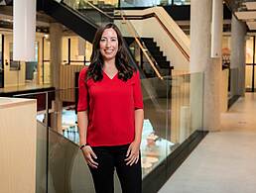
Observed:
[[[200,124],[197,112],[202,105],[202,128],[208,131],[218,131],[220,127],[220,58],[210,57],[212,0],[191,1],[191,105],[192,127]],[[222,24],[222,21],[219,21]],[[221,35],[222,36],[222,35]],[[202,94],[198,95],[198,76],[195,72],[203,72]],[[193,78],[194,77],[194,78]],[[193,79],[195,81],[193,81]],[[194,117],[197,120],[194,120]],[[197,123],[194,123],[197,122]],[[196,128],[195,128],[196,129]]]

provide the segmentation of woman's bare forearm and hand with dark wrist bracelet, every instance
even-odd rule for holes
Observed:
[[[78,129],[79,129],[80,145],[85,145],[81,149],[83,156],[84,156],[86,162],[91,167],[97,168],[98,163],[93,160],[93,158],[97,158],[97,156],[93,152],[92,148],[89,145],[86,145],[86,136],[87,136],[87,128],[88,128],[88,113],[87,113],[87,111],[79,111],[77,113],[77,123],[78,123]]]

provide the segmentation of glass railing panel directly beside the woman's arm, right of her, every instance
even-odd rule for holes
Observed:
[[[144,102],[144,126],[141,144],[143,177],[159,167],[166,165],[166,157],[170,153],[166,134],[168,113],[168,92],[170,84],[167,80],[147,78],[141,80]],[[159,176],[165,178],[163,172]]]

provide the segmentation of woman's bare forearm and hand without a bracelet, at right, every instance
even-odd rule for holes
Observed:
[[[140,156],[140,145],[141,145],[141,136],[143,129],[143,121],[144,121],[144,111],[143,109],[135,110],[135,138],[129,148],[127,150],[126,156],[128,156],[125,160],[127,161],[127,165],[132,165],[137,163]]]

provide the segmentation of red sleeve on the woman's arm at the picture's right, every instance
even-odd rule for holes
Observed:
[[[134,108],[143,109],[143,97],[141,91],[141,80],[139,71],[134,74],[135,83],[133,85],[133,98],[134,98]]]

